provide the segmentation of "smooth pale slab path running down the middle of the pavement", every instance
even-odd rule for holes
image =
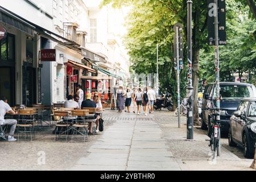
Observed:
[[[116,122],[72,170],[180,170],[153,114],[145,117],[122,113],[112,118]]]

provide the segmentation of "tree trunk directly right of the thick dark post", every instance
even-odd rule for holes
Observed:
[[[194,111],[194,124],[200,125],[198,114],[198,70],[199,70],[199,50],[193,49],[193,111]]]

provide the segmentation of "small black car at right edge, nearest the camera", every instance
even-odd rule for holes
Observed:
[[[241,101],[229,121],[229,146],[243,147],[243,155],[253,158],[256,142],[256,98]]]

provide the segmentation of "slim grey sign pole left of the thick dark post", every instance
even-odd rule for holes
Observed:
[[[176,60],[177,60],[177,81],[178,81],[178,127],[180,128],[180,47],[178,42],[178,26],[176,26]]]

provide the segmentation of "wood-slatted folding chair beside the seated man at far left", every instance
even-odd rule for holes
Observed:
[[[17,123],[18,141],[19,141],[20,134],[25,136],[25,141],[26,141],[26,138],[29,136],[30,136],[30,140],[32,141],[32,133],[34,132],[34,125],[35,125],[35,115],[36,115],[36,110],[32,110],[32,109],[18,110],[18,123]]]

